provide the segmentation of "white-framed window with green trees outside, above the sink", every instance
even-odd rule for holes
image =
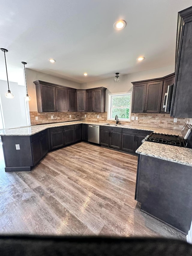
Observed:
[[[108,94],[107,119],[115,120],[117,115],[119,120],[129,122],[131,119],[131,99],[132,92]]]

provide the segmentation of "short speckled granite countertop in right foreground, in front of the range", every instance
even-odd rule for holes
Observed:
[[[145,141],[136,153],[192,166],[192,149]]]

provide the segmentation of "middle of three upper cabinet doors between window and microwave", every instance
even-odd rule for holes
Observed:
[[[145,113],[160,113],[163,81],[147,84]]]

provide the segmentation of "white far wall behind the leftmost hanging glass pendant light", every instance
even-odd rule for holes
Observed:
[[[13,99],[7,99],[5,97],[5,92],[8,90],[7,81],[0,80],[0,97],[4,117],[4,128],[26,126],[27,120],[24,100],[26,95],[25,86],[9,82],[9,87],[11,92],[15,95]]]

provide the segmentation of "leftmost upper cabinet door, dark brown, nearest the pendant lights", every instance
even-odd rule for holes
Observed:
[[[55,87],[49,85],[41,85],[41,100],[43,112],[55,112],[56,100],[55,100]]]

